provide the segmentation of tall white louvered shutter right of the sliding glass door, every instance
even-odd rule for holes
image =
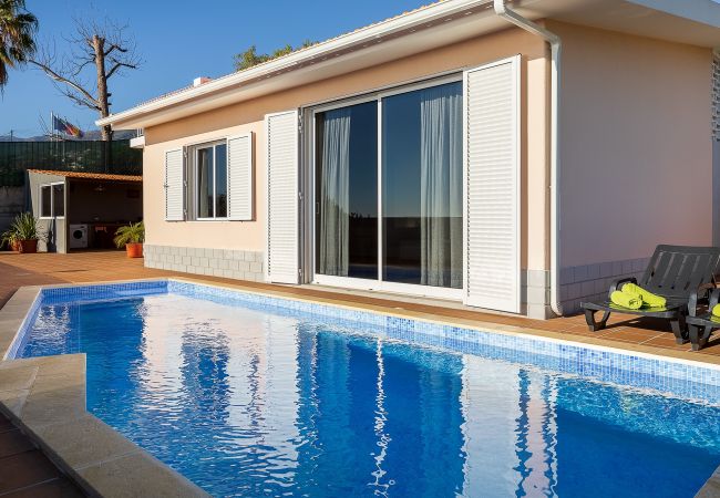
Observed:
[[[520,56],[464,74],[465,303],[518,313]]]

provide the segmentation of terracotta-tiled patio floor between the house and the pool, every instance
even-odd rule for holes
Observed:
[[[397,312],[399,308],[415,315],[435,317],[444,320],[494,322],[515,325],[523,329],[546,331],[554,336],[562,336],[582,342],[597,342],[616,347],[635,351],[646,351],[667,354],[698,361],[720,363],[720,334],[713,336],[710,344],[702,351],[692,352],[689,344],[678,345],[668,324],[664,321],[638,320],[636,317],[614,314],[608,328],[599,333],[589,332],[582,315],[553,319],[529,320],[469,309],[443,308],[423,302],[399,302],[387,295],[369,297],[367,294],[330,292],[309,286],[288,287],[214,277],[193,276],[172,271],[155,270],[143,267],[142,259],[128,259],[122,251],[74,252],[69,255],[18,255],[0,252],[0,307],[12,293],[22,286],[38,286],[66,282],[96,282],[109,280],[128,280],[137,278],[154,278],[183,276],[196,280],[223,282],[256,290],[277,292],[301,297],[316,297],[332,301],[367,304],[373,308],[388,309]]]

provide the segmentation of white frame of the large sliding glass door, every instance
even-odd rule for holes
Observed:
[[[462,301],[465,281],[463,280],[463,287],[460,289],[453,289],[449,287],[435,287],[435,286],[423,286],[420,283],[400,283],[400,282],[390,282],[382,279],[382,264],[383,264],[383,216],[382,216],[382,100],[389,96],[399,95],[403,93],[413,92],[416,90],[428,89],[432,86],[439,86],[446,83],[463,83],[463,72],[452,73],[449,75],[443,75],[439,77],[428,79],[420,82],[414,82],[405,84],[402,86],[391,87],[387,90],[376,91],[371,93],[366,93],[358,96],[352,96],[330,103],[321,103],[312,107],[307,107],[304,110],[304,114],[308,116],[306,124],[306,129],[309,131],[308,137],[302,142],[307,144],[308,154],[306,154],[306,167],[305,170],[308,175],[308,181],[306,186],[308,187],[308,200],[310,209],[306,219],[308,221],[308,230],[305,230],[306,243],[304,245],[309,251],[309,258],[306,259],[306,263],[309,263],[308,268],[308,281],[311,283],[320,286],[331,286],[331,287],[341,287],[347,289],[358,289],[358,290],[374,290],[383,292],[397,292],[402,294],[411,295],[426,295],[432,298],[449,299],[454,301]],[[464,91],[463,91],[464,94]],[[357,277],[337,277],[321,274],[317,272],[316,260],[317,260],[317,250],[316,240],[317,240],[317,229],[316,226],[316,209],[317,209],[317,193],[316,193],[316,176],[317,176],[317,164],[316,164],[316,145],[317,145],[317,135],[316,135],[316,115],[326,111],[332,111],[336,108],[348,107],[357,104],[364,104],[369,102],[377,102],[378,111],[378,276],[376,279],[361,279]],[[463,178],[464,178],[464,162],[463,162]],[[463,221],[464,225],[464,221]],[[464,239],[461,242],[464,245]],[[463,261],[463,266],[464,266]]]

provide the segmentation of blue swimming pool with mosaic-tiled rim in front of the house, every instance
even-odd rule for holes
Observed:
[[[86,353],[88,409],[215,496],[677,497],[720,465],[711,369],[175,281],[34,313],[12,354]]]

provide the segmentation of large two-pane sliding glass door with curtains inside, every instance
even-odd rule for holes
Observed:
[[[313,115],[315,281],[460,299],[462,82]]]

